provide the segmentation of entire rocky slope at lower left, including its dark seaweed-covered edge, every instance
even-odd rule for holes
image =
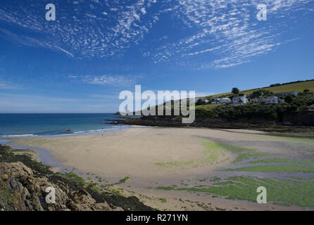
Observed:
[[[47,187],[55,190],[55,203],[46,203]],[[98,193],[80,179],[54,173],[28,155],[15,155],[0,145],[1,211],[123,211],[152,210],[135,197]]]

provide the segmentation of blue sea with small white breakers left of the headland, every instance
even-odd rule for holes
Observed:
[[[107,124],[105,120],[113,120],[116,117],[117,115],[109,113],[0,114],[0,138],[114,131],[121,129],[121,125]]]

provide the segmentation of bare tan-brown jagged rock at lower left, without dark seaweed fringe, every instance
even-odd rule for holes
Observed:
[[[46,188],[56,190],[56,203],[46,203]],[[73,191],[62,181],[51,181],[23,162],[0,162],[1,211],[117,211],[106,202],[96,203],[84,188]]]

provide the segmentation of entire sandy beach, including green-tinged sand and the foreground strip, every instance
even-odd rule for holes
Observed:
[[[56,160],[84,172],[85,177],[86,174],[94,174],[107,183],[130,177],[125,184],[118,185],[117,190],[123,189],[125,195],[136,195],[145,204],[159,210],[215,210],[212,204],[225,210],[270,210],[272,205],[227,200],[217,198],[217,195],[191,191],[163,191],[158,188],[193,188],[203,184],[201,180],[206,177],[231,176],[231,172],[222,174],[220,170],[233,168],[232,162],[239,155],[238,151],[242,150],[254,150],[254,154],[261,156],[271,154],[301,160],[314,156],[313,140],[262,134],[264,133],[242,130],[133,127],[104,136],[82,135],[13,141],[18,145],[49,150]],[[166,200],[161,202],[160,199],[163,198]],[[181,203],[181,198],[185,198],[188,203]],[[200,204],[206,207],[201,207]],[[300,208],[276,206],[276,209]]]

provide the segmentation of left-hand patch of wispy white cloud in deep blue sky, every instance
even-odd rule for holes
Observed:
[[[19,35],[0,30],[2,36],[20,44],[62,51],[70,57],[120,55],[144,37],[153,24],[147,15],[156,3],[148,1],[55,1],[57,20],[42,16],[46,3],[40,0],[11,1],[0,6],[0,22],[26,31]],[[39,13],[42,12],[42,13]]]

